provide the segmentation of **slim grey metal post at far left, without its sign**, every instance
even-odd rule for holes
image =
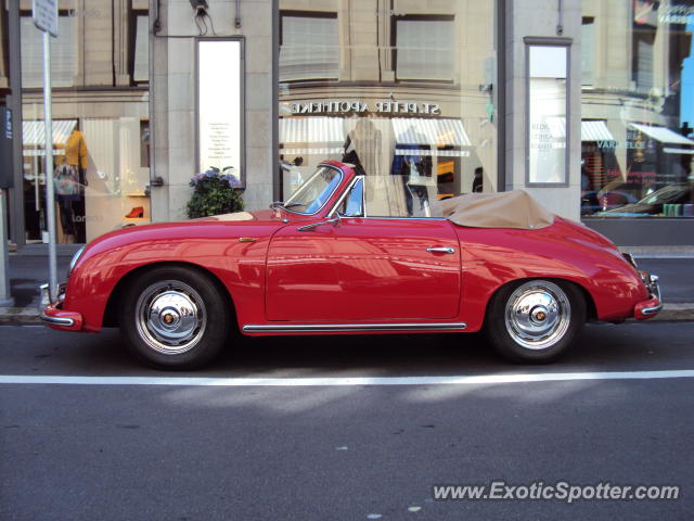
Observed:
[[[53,114],[51,112],[51,37],[43,31],[43,119],[46,123],[46,214],[48,223],[49,298],[57,298],[55,190],[53,188]]]

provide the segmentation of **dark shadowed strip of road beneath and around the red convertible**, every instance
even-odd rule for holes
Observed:
[[[34,373],[169,373],[132,357],[116,329],[83,335],[34,331],[40,331],[42,347],[33,354],[9,351],[9,366]],[[694,322],[588,325],[574,348],[550,365],[509,363],[483,333],[234,336],[208,367],[178,374],[298,378],[681,369],[693,350],[693,335]]]

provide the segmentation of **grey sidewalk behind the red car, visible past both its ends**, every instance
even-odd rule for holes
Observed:
[[[65,280],[67,267],[79,245],[57,247],[57,279]],[[664,309],[655,320],[694,320],[694,246],[621,247],[635,256],[640,269],[660,277]],[[38,288],[49,279],[48,250],[25,246],[10,254],[10,288],[14,307],[0,307],[0,323],[41,323],[38,318]]]

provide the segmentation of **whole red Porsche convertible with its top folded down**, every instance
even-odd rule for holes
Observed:
[[[660,310],[657,277],[525,192],[437,201],[435,191],[322,163],[270,209],[100,237],[41,318],[65,331],[118,326],[141,359],[180,369],[210,361],[236,329],[484,329],[507,358],[548,361],[587,320]]]

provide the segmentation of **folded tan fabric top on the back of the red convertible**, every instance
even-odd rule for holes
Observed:
[[[437,201],[432,213],[460,226],[473,228],[547,228],[554,216],[523,190],[467,193]]]

